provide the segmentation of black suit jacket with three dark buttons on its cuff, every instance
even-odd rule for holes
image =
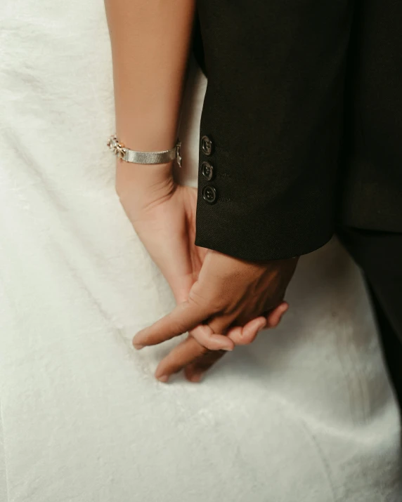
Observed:
[[[402,232],[401,19],[401,0],[198,0],[195,244],[268,260],[338,223]]]

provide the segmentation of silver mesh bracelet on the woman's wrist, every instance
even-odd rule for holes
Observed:
[[[176,145],[170,150],[163,152],[136,152],[129,150],[122,143],[119,143],[117,136],[113,134],[108,140],[108,147],[120,159],[126,162],[134,162],[134,164],[167,164],[176,159],[177,164],[181,167],[181,141],[177,140]]]

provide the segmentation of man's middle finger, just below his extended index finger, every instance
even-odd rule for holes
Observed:
[[[188,336],[186,340],[177,345],[169,354],[162,359],[157,366],[155,376],[162,382],[167,382],[169,376],[183,369],[186,364],[193,362],[197,357],[207,352],[193,336]]]

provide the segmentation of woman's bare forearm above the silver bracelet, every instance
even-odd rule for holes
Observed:
[[[131,150],[174,147],[194,4],[194,0],[105,0],[116,133]],[[150,166],[133,167],[132,172],[150,170]]]

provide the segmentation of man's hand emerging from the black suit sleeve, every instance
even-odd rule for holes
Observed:
[[[230,331],[228,338],[235,345],[249,343],[245,342],[247,333],[256,331],[255,323],[259,322],[257,318],[261,315],[267,316],[276,310],[269,327],[278,324],[286,308],[282,304],[283,296],[296,265],[297,258],[248,262],[208,250],[198,279],[188,293],[188,300],[152,326],[139,331],[133,340],[134,347],[155,345],[190,331],[200,347],[188,338],[174,349],[173,355],[164,359],[157,369],[157,376],[166,381],[169,374],[193,362],[189,360],[190,353],[193,359],[205,356],[202,341],[206,338],[226,335]],[[254,324],[249,324],[246,329],[250,321]],[[176,365],[172,361],[174,357]]]

